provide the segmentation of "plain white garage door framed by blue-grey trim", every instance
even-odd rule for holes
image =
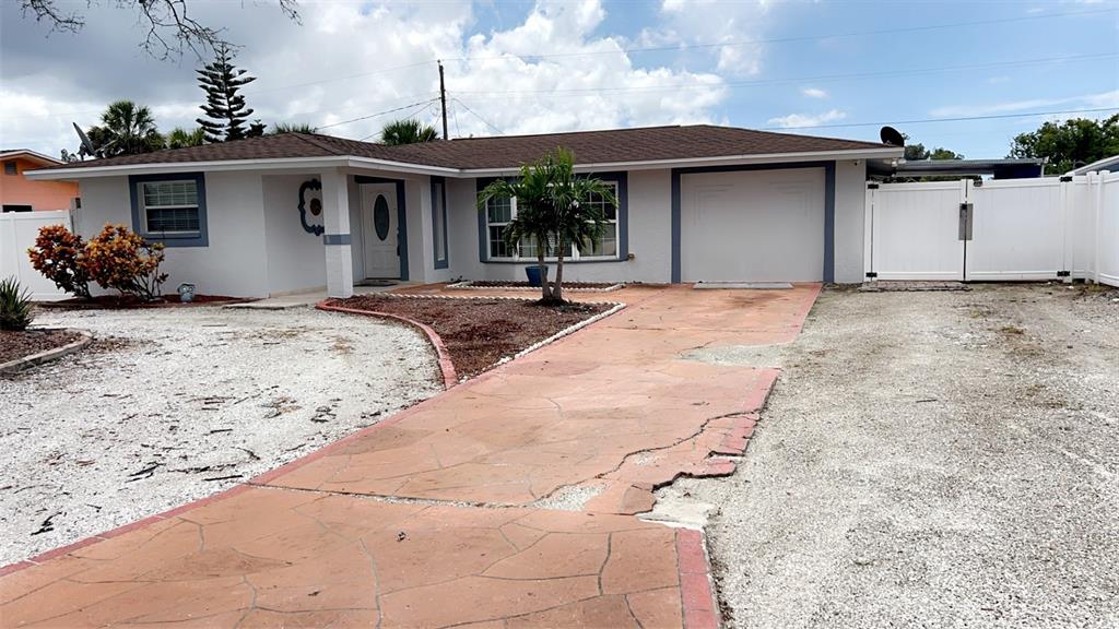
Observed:
[[[680,279],[824,279],[824,169],[684,175]]]

